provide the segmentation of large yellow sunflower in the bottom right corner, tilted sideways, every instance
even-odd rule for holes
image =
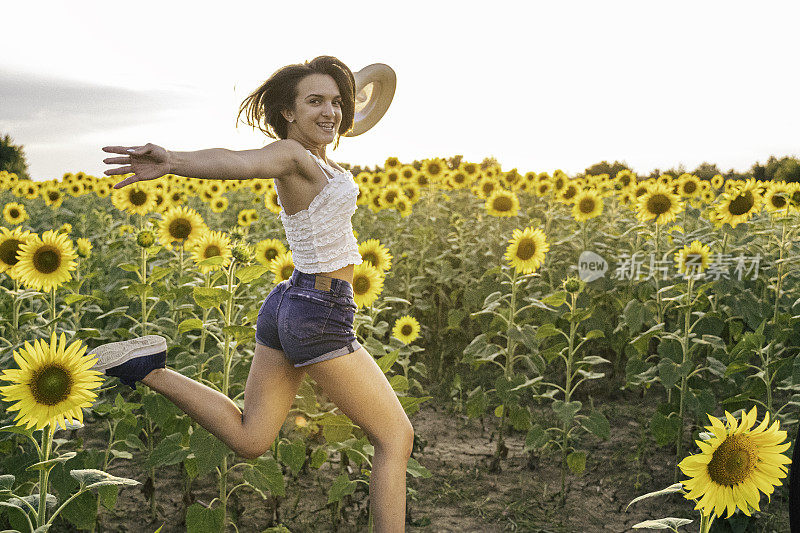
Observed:
[[[728,518],[738,507],[750,516],[751,507],[759,510],[758,491],[769,496],[773,485],[779,486],[779,479],[786,477],[785,465],[792,462],[782,454],[790,445],[781,444],[786,432],[778,430],[778,420],[767,428],[769,412],[758,427],[750,429],[756,417],[755,406],[749,413],[742,413],[741,421],[725,411],[727,426],[708,415],[711,426],[705,427],[713,436],[705,442],[695,441],[701,453],[690,455],[678,464],[690,478],[683,482],[689,489],[684,497],[690,500],[699,497],[695,509],[701,509],[703,514],[713,512],[721,517],[727,508]]]

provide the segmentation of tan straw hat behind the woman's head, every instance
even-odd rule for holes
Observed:
[[[361,135],[378,123],[389,109],[397,76],[389,65],[373,63],[353,73],[356,79],[356,112],[346,137]]]

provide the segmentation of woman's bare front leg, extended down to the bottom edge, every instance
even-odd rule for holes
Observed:
[[[414,428],[386,376],[363,347],[301,368],[375,448],[369,484],[375,531],[405,531],[406,467]]]

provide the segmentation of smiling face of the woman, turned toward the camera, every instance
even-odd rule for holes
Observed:
[[[290,139],[312,146],[333,142],[342,122],[342,97],[333,77],[310,74],[300,80],[294,107],[284,111]]]

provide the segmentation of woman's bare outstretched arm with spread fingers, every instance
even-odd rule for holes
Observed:
[[[177,174],[187,178],[204,179],[276,179],[297,169],[303,147],[294,140],[282,139],[255,150],[228,150],[209,148],[191,152],[174,152],[147,143],[144,146],[104,146],[104,152],[123,154],[125,157],[104,159],[108,164],[124,166],[106,170],[107,175],[133,172],[115,189],[137,181]]]

